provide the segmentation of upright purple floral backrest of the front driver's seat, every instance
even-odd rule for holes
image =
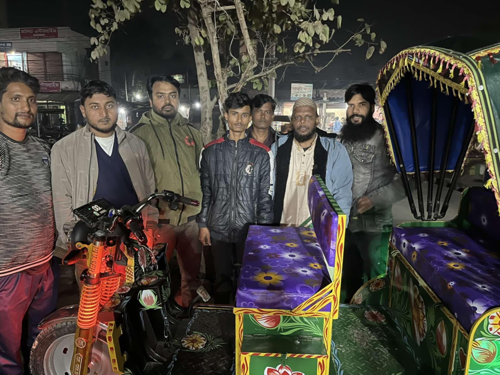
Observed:
[[[307,201],[312,227],[316,233],[316,240],[321,247],[321,252],[323,253],[326,263],[333,267],[335,265],[338,214],[342,214],[342,211],[337,206],[339,212],[335,212],[330,201],[332,201],[334,205],[336,205],[336,203],[326,189],[326,186],[320,181],[318,175],[312,176],[309,180]]]

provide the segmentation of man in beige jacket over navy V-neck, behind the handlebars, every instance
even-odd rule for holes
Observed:
[[[64,227],[77,219],[73,209],[104,198],[116,208],[133,205],[154,192],[154,174],[145,144],[116,126],[114,89],[102,81],[88,82],[80,92],[80,110],[87,125],[57,141],[51,151],[52,195],[58,232],[56,254],[66,252]],[[145,234],[152,244],[158,210],[142,213]],[[75,267],[79,283],[86,261]]]

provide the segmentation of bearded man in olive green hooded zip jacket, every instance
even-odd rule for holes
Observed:
[[[198,158],[203,147],[199,131],[178,113],[180,83],[170,75],[153,75],[147,81],[151,109],[130,129],[147,147],[158,190],[172,190],[201,201]],[[167,259],[177,249],[181,273],[176,302],[187,307],[197,288],[202,245],[196,215],[200,207],[179,204],[176,211],[159,203],[155,241],[167,243]]]

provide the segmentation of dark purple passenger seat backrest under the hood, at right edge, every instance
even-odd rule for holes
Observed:
[[[469,196],[467,221],[491,238],[500,240],[500,215],[493,191],[482,186],[474,186],[467,190],[467,195]]]

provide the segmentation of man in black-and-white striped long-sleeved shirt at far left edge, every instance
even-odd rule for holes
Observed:
[[[55,239],[50,150],[26,134],[36,118],[38,80],[0,68],[0,373],[19,375],[22,320],[27,349],[51,309]],[[23,346],[23,345],[22,345]],[[23,347],[24,349],[24,347]],[[26,351],[29,353],[29,350]],[[29,357],[24,355],[24,362]]]

